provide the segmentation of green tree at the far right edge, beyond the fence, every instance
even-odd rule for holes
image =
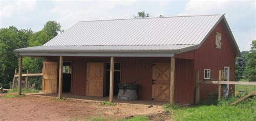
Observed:
[[[251,46],[251,50],[246,56],[246,72],[249,76],[249,81],[256,81],[256,40],[252,41]]]

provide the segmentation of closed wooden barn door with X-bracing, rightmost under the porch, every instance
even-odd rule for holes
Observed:
[[[155,101],[169,101],[170,63],[153,63],[152,99]]]

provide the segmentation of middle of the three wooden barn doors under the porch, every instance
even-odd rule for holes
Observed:
[[[103,97],[104,63],[87,63],[86,96]]]

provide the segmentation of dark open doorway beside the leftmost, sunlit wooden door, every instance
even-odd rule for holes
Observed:
[[[71,76],[72,76],[72,63],[63,62],[63,82],[62,92],[70,92],[71,90]]]

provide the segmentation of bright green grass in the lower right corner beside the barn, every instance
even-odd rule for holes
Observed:
[[[208,101],[202,101],[192,107],[181,108],[167,104],[164,109],[173,113],[174,120],[256,120],[256,97],[230,106],[230,103],[240,97],[223,98],[219,102],[210,97]]]

